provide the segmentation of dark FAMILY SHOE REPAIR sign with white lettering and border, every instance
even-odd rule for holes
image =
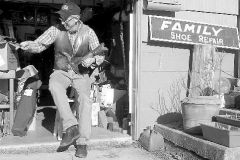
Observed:
[[[239,49],[237,28],[149,16],[150,40]]]

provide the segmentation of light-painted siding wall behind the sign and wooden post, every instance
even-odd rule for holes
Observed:
[[[229,27],[237,26],[238,0],[182,0],[182,9],[175,13],[175,18]],[[170,94],[174,93],[172,87],[177,82],[186,82],[191,48],[170,43],[166,47],[161,42],[149,44],[148,15],[150,14],[143,12],[141,18],[138,134],[146,126],[153,126],[161,114],[175,110]],[[157,12],[156,15],[161,15],[161,12]],[[226,53],[222,68],[233,75],[234,54]],[[185,94],[186,90],[182,88],[181,99]],[[159,101],[159,98],[162,99]]]

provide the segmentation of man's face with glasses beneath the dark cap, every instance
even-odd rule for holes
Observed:
[[[79,19],[76,17],[70,16],[66,21],[61,20],[61,22],[70,33],[74,33],[78,30]]]

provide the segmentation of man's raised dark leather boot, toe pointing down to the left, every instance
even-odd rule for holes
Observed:
[[[59,146],[59,151],[63,149],[66,150],[68,147],[73,144],[78,138],[80,137],[80,133],[78,130],[78,126],[74,125],[69,128],[67,128],[66,133],[62,137],[62,141]]]

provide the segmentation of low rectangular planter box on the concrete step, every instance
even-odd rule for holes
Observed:
[[[203,138],[226,147],[240,146],[240,128],[231,125],[211,122],[201,124]]]

